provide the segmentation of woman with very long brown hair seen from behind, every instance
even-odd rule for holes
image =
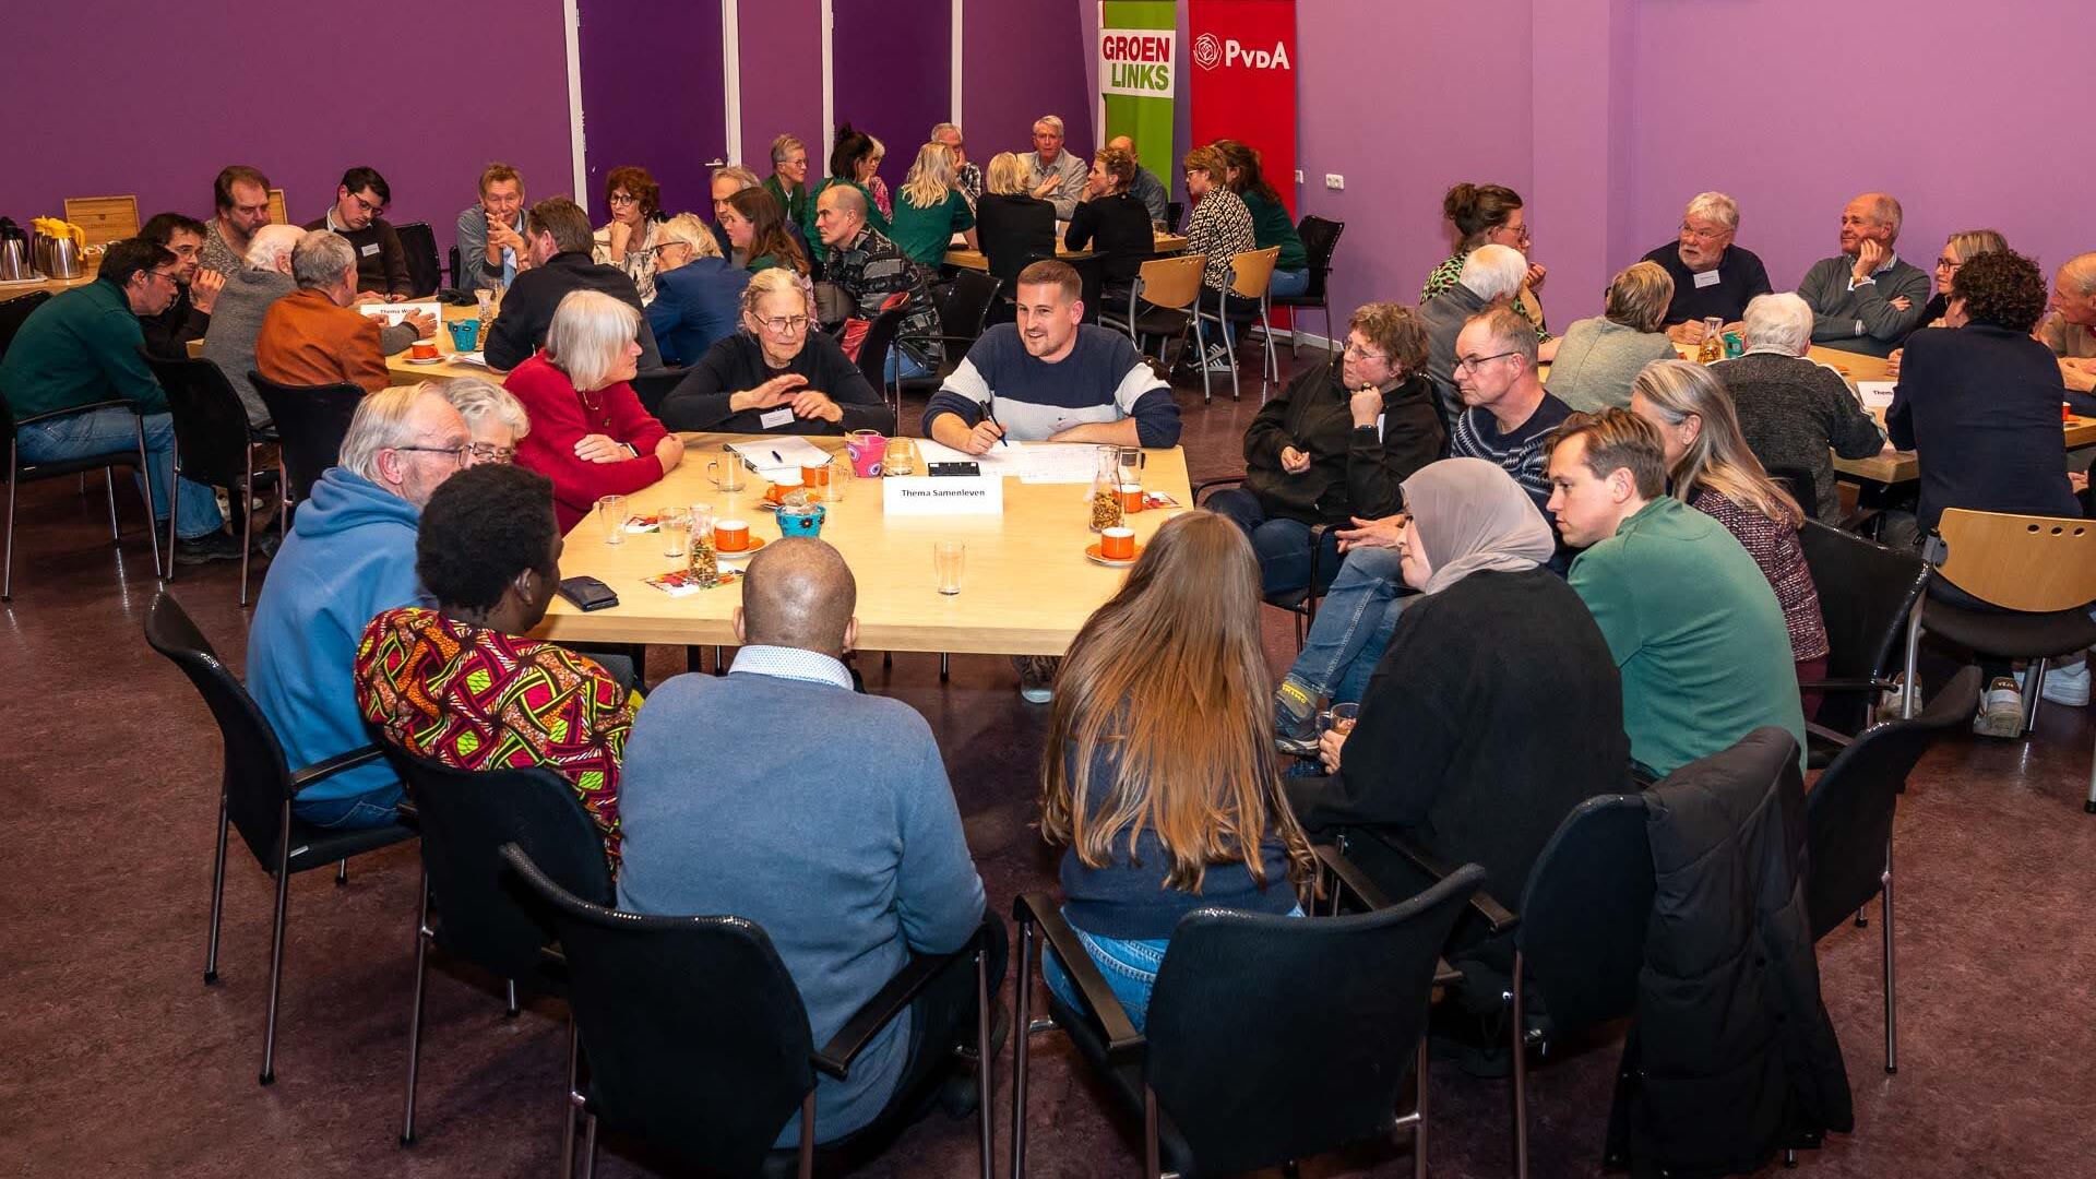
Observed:
[[[1260,562],[1214,512],[1167,520],[1056,676],[1042,837],[1063,915],[1136,1026],[1195,908],[1300,915],[1314,856],[1281,795]],[[1054,955],[1042,976],[1075,992]]]

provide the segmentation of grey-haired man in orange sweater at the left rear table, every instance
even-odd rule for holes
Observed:
[[[386,376],[381,319],[358,315],[356,250],[340,233],[314,231],[291,248],[298,290],[272,302],[256,336],[256,371],[279,384],[354,384],[377,392]],[[430,336],[436,321],[409,315],[415,336]]]

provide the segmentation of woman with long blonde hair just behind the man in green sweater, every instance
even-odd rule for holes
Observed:
[[[1631,384],[1631,413],[1658,426],[1675,499],[1725,524],[1769,579],[1790,627],[1798,682],[1826,680],[1828,629],[1798,543],[1805,510],[1746,447],[1731,394],[1702,365],[1652,361]],[[1805,720],[1817,707],[1819,694],[1807,692]]]

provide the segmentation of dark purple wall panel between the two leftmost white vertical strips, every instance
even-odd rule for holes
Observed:
[[[727,151],[721,8],[690,0],[578,0],[583,157],[591,222],[610,220],[604,176],[639,164],[662,210],[711,210],[708,159]],[[662,52],[660,46],[675,46]],[[566,71],[553,78],[566,88]]]

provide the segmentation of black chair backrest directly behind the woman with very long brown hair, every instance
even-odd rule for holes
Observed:
[[[1442,944],[1484,883],[1465,864],[1404,904],[1289,919],[1203,908],[1172,931],[1144,1078],[1203,1173],[1388,1133]]]

